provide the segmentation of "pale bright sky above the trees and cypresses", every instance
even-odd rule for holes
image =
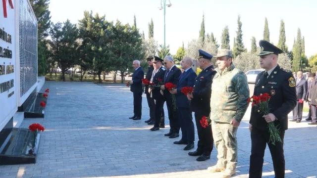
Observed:
[[[168,0],[166,0],[168,3]],[[170,0],[166,7],[165,44],[171,54],[184,42],[185,47],[192,39],[199,37],[203,14],[206,34],[211,32],[220,44],[223,28],[227,25],[230,47],[236,37],[237,18],[241,16],[243,43],[251,50],[251,38],[255,36],[257,45],[263,39],[264,20],[268,21],[270,42],[278,43],[281,19],[285,23],[286,45],[293,47],[298,28],[305,37],[305,53],[308,57],[317,53],[317,0]],[[144,31],[148,39],[148,24],[154,22],[154,39],[164,43],[164,15],[159,10],[160,0],[51,0],[49,10],[53,23],[78,23],[84,17],[84,10],[93,14],[106,15],[106,20],[120,20],[133,25],[136,16],[137,28]]]

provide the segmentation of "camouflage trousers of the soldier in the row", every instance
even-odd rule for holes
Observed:
[[[212,137],[218,151],[218,167],[235,170],[238,162],[237,130],[231,124],[211,122]]]

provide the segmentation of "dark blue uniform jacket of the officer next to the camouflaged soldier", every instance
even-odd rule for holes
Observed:
[[[192,111],[210,113],[211,84],[216,73],[211,65],[200,72],[195,78],[194,98],[190,102]]]

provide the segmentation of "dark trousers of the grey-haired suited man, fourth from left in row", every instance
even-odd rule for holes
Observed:
[[[166,106],[167,106],[168,120],[169,120],[169,127],[170,127],[169,131],[179,134],[180,126],[178,123],[177,107],[174,110],[171,94],[165,94],[165,99],[166,99]]]

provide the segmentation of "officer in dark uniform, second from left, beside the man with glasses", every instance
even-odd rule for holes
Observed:
[[[153,59],[154,57],[153,56],[149,56],[147,58],[147,61],[148,61],[148,70],[147,70],[147,75],[145,76],[146,79],[148,79],[149,81],[151,81],[151,77],[152,77],[152,73],[153,73],[153,70],[154,70],[154,67],[153,67]],[[154,116],[154,106],[151,102],[151,96],[150,96],[150,93],[149,93],[149,86],[145,86],[145,94],[147,95],[147,100],[148,100],[148,105],[149,105],[149,108],[150,108],[150,119],[147,120],[147,121],[144,121],[145,123],[149,123],[151,120],[154,120],[155,116]]]

